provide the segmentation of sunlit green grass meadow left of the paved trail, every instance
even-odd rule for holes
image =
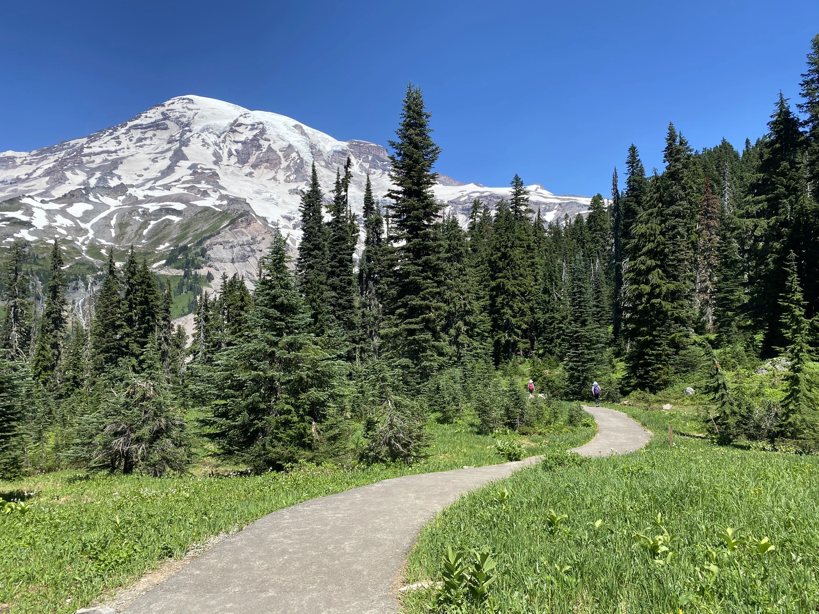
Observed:
[[[505,461],[495,440],[468,424],[429,428],[430,457],[412,467],[304,465],[262,476],[167,478],[58,472],[0,483],[7,501],[36,493],[27,506],[0,513],[0,603],[11,612],[74,612],[163,559],[277,509],[409,473]],[[529,456],[580,445],[591,434],[515,439]]]

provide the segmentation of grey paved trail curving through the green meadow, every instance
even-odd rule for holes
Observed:
[[[649,434],[624,413],[584,407],[598,435],[586,456],[641,448]],[[126,614],[387,614],[421,527],[459,494],[537,462],[396,477],[273,512],[216,545]]]

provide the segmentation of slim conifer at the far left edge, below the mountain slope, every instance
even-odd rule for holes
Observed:
[[[2,326],[2,348],[7,359],[24,361],[29,355],[34,305],[29,299],[29,276],[24,272],[25,243],[19,239],[8,248],[3,267],[6,318]]]

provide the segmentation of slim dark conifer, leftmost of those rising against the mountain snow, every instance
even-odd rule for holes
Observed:
[[[296,276],[316,330],[324,326],[327,293],[328,229],[324,224],[324,194],[313,163],[310,187],[301,195],[301,242],[296,260]]]

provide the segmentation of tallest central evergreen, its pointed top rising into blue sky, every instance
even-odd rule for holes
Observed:
[[[410,378],[426,381],[446,360],[448,345],[441,330],[442,237],[438,223],[441,205],[432,195],[432,172],[441,152],[432,142],[431,114],[423,106],[420,88],[407,86],[396,135],[390,141],[390,179],[395,185],[390,241],[395,246],[391,266],[387,314],[382,331],[390,354]]]

